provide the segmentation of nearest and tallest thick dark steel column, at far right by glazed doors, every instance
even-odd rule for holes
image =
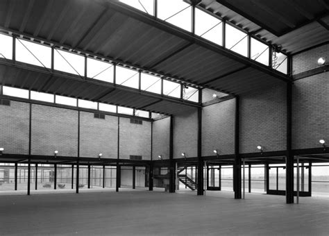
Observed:
[[[292,155],[292,83],[287,83],[286,203],[294,203],[294,155]]]

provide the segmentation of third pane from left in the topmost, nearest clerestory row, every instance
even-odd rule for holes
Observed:
[[[206,23],[206,24],[205,24]],[[223,45],[223,24],[221,20],[203,10],[195,9],[195,34],[206,40]]]

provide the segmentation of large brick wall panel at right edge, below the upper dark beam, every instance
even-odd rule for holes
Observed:
[[[293,149],[321,147],[329,140],[329,72],[294,82],[292,110]]]

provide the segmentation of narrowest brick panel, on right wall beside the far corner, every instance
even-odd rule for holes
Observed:
[[[169,159],[169,139],[170,139],[170,117],[153,121],[153,160],[162,155],[163,159]]]

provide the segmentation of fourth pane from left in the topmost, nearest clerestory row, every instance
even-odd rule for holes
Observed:
[[[242,56],[248,56],[248,37],[247,34],[239,31],[237,28],[226,24],[226,49],[235,51]]]

